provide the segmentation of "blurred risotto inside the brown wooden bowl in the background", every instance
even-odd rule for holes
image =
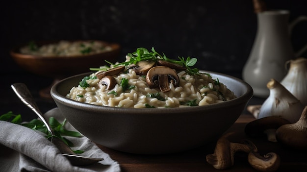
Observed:
[[[95,54],[112,50],[99,41],[59,41],[54,44],[47,44],[38,47],[34,42],[22,47],[20,52],[23,54],[40,56],[75,56],[84,54]]]

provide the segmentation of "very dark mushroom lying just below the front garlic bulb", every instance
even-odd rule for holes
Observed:
[[[254,120],[245,126],[245,133],[251,137],[259,138],[267,136],[270,142],[277,142],[276,130],[284,124],[290,123],[288,120],[277,116],[264,117]]]

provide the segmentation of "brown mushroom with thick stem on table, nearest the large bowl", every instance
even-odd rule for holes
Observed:
[[[232,143],[227,138],[233,133],[228,133],[220,137],[216,143],[214,154],[206,155],[206,161],[215,169],[228,169],[234,164],[234,154],[238,151],[251,152],[257,151],[253,142],[244,140],[243,143]]]

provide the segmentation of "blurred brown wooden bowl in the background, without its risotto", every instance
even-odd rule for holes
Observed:
[[[79,40],[73,40],[79,41]],[[70,41],[70,42],[73,42]],[[98,41],[98,40],[84,40]],[[36,42],[37,46],[57,43],[59,41]],[[40,56],[21,53],[20,49],[26,44],[17,46],[10,51],[14,61],[24,70],[33,74],[53,78],[51,86],[59,80],[80,73],[89,72],[89,68],[98,68],[106,64],[105,60],[116,62],[120,53],[120,45],[103,41],[102,45],[111,47],[111,50],[96,54],[73,55],[73,56]],[[50,87],[40,91],[42,97],[51,98]]]

